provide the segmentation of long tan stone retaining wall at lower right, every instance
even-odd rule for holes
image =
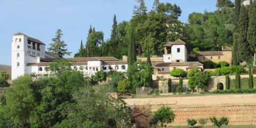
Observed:
[[[133,113],[145,114],[143,127],[149,127],[153,112],[162,106],[171,107],[175,114],[173,126],[187,125],[188,118],[229,118],[229,125],[256,125],[256,94],[213,95],[202,97],[124,99]],[[141,121],[140,121],[141,122]],[[197,124],[199,125],[199,124]],[[206,125],[212,125],[207,123]]]

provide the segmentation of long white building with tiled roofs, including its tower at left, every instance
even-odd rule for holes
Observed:
[[[12,35],[12,79],[23,74],[49,74],[49,67],[53,60],[61,59],[55,54],[45,51],[45,44],[38,39],[23,33]],[[114,57],[65,58],[73,60],[73,69],[83,71],[84,75],[94,74],[96,71],[109,70],[127,71],[127,62]]]

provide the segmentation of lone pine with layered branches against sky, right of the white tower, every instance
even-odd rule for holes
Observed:
[[[67,52],[68,49],[65,49],[67,44],[65,44],[64,41],[61,41],[61,36],[63,35],[61,33],[61,29],[57,29],[57,32],[55,33],[55,38],[52,38],[52,41],[54,43],[51,43],[51,47],[47,48],[49,52],[54,53],[55,55],[58,55],[59,57],[63,57],[65,54],[70,55],[71,52]]]

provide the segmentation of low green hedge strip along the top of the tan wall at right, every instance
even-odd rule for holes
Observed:
[[[256,93],[256,89],[235,89],[235,90],[214,90],[213,94],[225,94],[225,93]]]

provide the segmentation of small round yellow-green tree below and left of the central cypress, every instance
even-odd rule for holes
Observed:
[[[117,91],[120,93],[131,92],[132,83],[128,79],[123,79],[118,82]]]

